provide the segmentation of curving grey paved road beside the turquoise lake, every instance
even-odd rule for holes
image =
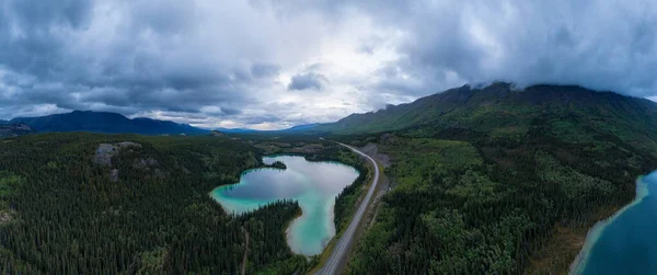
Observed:
[[[333,252],[331,253],[331,257],[328,257],[328,261],[326,261],[326,263],[324,264],[324,267],[322,268],[322,271],[320,271],[320,274],[336,274],[337,273],[341,262],[345,259],[345,256],[347,255],[347,252],[349,252],[349,247],[351,244],[351,239],[354,239],[354,233],[356,233],[356,229],[358,228],[358,225],[360,224],[360,220],[362,219],[362,216],[365,215],[367,205],[369,204],[370,199],[372,198],[372,194],[374,194],[374,191],[377,190],[377,183],[379,183],[379,165],[377,165],[377,162],[372,158],[370,158],[369,156],[367,156],[366,153],[364,153],[359,150],[356,150],[356,148],[354,148],[354,147],[350,147],[348,145],[341,144],[341,142],[337,142],[337,144],[339,144],[344,147],[347,147],[347,148],[351,149],[354,152],[367,158],[372,163],[372,165],[374,165],[374,182],[372,183],[369,191],[367,192],[367,196],[365,196],[365,199],[362,199],[362,202],[360,203],[360,206],[358,206],[358,210],[354,215],[354,218],[351,219],[349,227],[347,228],[347,230],[345,230],[345,232],[343,233],[342,238],[339,238],[339,240],[337,241],[335,247],[333,247]]]

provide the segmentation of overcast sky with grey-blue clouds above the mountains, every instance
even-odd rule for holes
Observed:
[[[657,99],[657,2],[2,0],[0,119],[337,121],[465,83]]]

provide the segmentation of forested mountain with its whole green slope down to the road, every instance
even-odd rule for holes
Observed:
[[[349,274],[567,273],[657,169],[657,104],[579,87],[462,87],[318,128],[392,162]]]

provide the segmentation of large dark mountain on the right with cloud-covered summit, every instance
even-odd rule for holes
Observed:
[[[576,85],[517,89],[497,82],[450,89],[415,102],[353,114],[313,131],[367,134],[405,130],[425,137],[521,140],[538,130],[568,141],[606,136],[639,148],[657,148],[657,104],[646,99]],[[468,137],[465,137],[468,136]]]

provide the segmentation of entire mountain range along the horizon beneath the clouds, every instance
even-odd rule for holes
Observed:
[[[141,135],[205,135],[208,129],[120,114],[74,111],[41,117],[16,117],[0,124],[26,125],[35,131],[94,131]],[[408,131],[415,136],[463,139],[519,140],[535,129],[572,140],[587,141],[600,135],[621,137],[630,144],[657,148],[657,104],[613,92],[577,85],[539,84],[516,88],[496,82],[487,87],[463,85],[412,103],[389,105],[365,114],[351,114],[335,123],[299,125],[283,130],[217,128],[232,134],[371,134]],[[25,133],[25,131],[22,131]]]

